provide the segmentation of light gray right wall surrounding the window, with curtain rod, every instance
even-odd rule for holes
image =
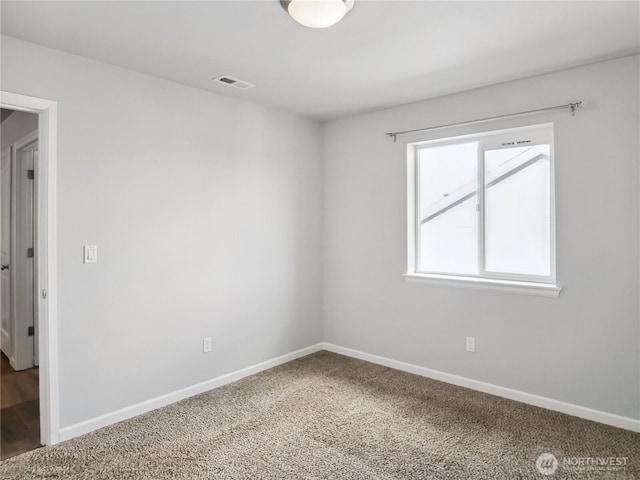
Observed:
[[[640,418],[638,71],[627,57],[326,124],[325,340]],[[577,100],[590,105],[575,117],[384,135]],[[560,297],[406,283],[407,142],[545,122]]]

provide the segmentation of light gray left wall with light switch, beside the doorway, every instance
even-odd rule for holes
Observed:
[[[318,124],[8,37],[2,89],[58,102],[61,427],[321,341]]]

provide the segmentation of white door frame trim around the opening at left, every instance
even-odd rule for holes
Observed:
[[[0,91],[0,106],[38,114],[39,155],[36,171],[37,312],[40,354],[40,440],[59,442],[58,302],[56,269],[56,150],[58,103]]]

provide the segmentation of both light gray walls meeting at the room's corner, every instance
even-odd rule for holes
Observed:
[[[2,89],[59,103],[61,426],[323,338],[639,418],[638,68],[628,57],[321,132],[3,37]],[[476,128],[384,132],[578,99],[591,105],[573,118],[482,126],[555,123],[560,297],[405,283],[406,143]],[[82,264],[83,244],[98,264]]]

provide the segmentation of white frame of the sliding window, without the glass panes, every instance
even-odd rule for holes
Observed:
[[[484,185],[484,152],[500,148],[513,148],[509,141],[529,141],[527,144],[548,143],[550,145],[550,275],[538,276],[528,274],[497,273],[485,269],[485,185]],[[448,272],[420,271],[418,265],[420,245],[419,205],[419,162],[421,149],[434,146],[456,145],[461,143],[478,143],[477,155],[477,201],[478,201],[478,274],[451,274]],[[460,135],[456,137],[413,142],[407,144],[407,270],[408,281],[427,281],[446,285],[471,286],[492,290],[506,290],[531,295],[555,296],[562,290],[556,285],[556,218],[555,218],[555,168],[553,146],[553,124],[545,123],[524,127],[508,128],[495,131]],[[515,144],[517,146],[517,143]]]

